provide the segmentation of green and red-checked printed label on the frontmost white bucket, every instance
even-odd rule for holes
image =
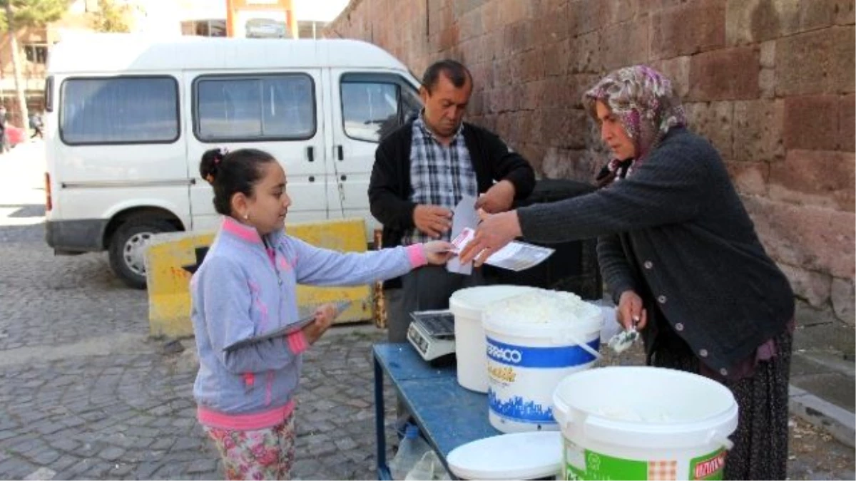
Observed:
[[[693,460],[625,460],[566,440],[566,481],[722,481],[725,450]]]

